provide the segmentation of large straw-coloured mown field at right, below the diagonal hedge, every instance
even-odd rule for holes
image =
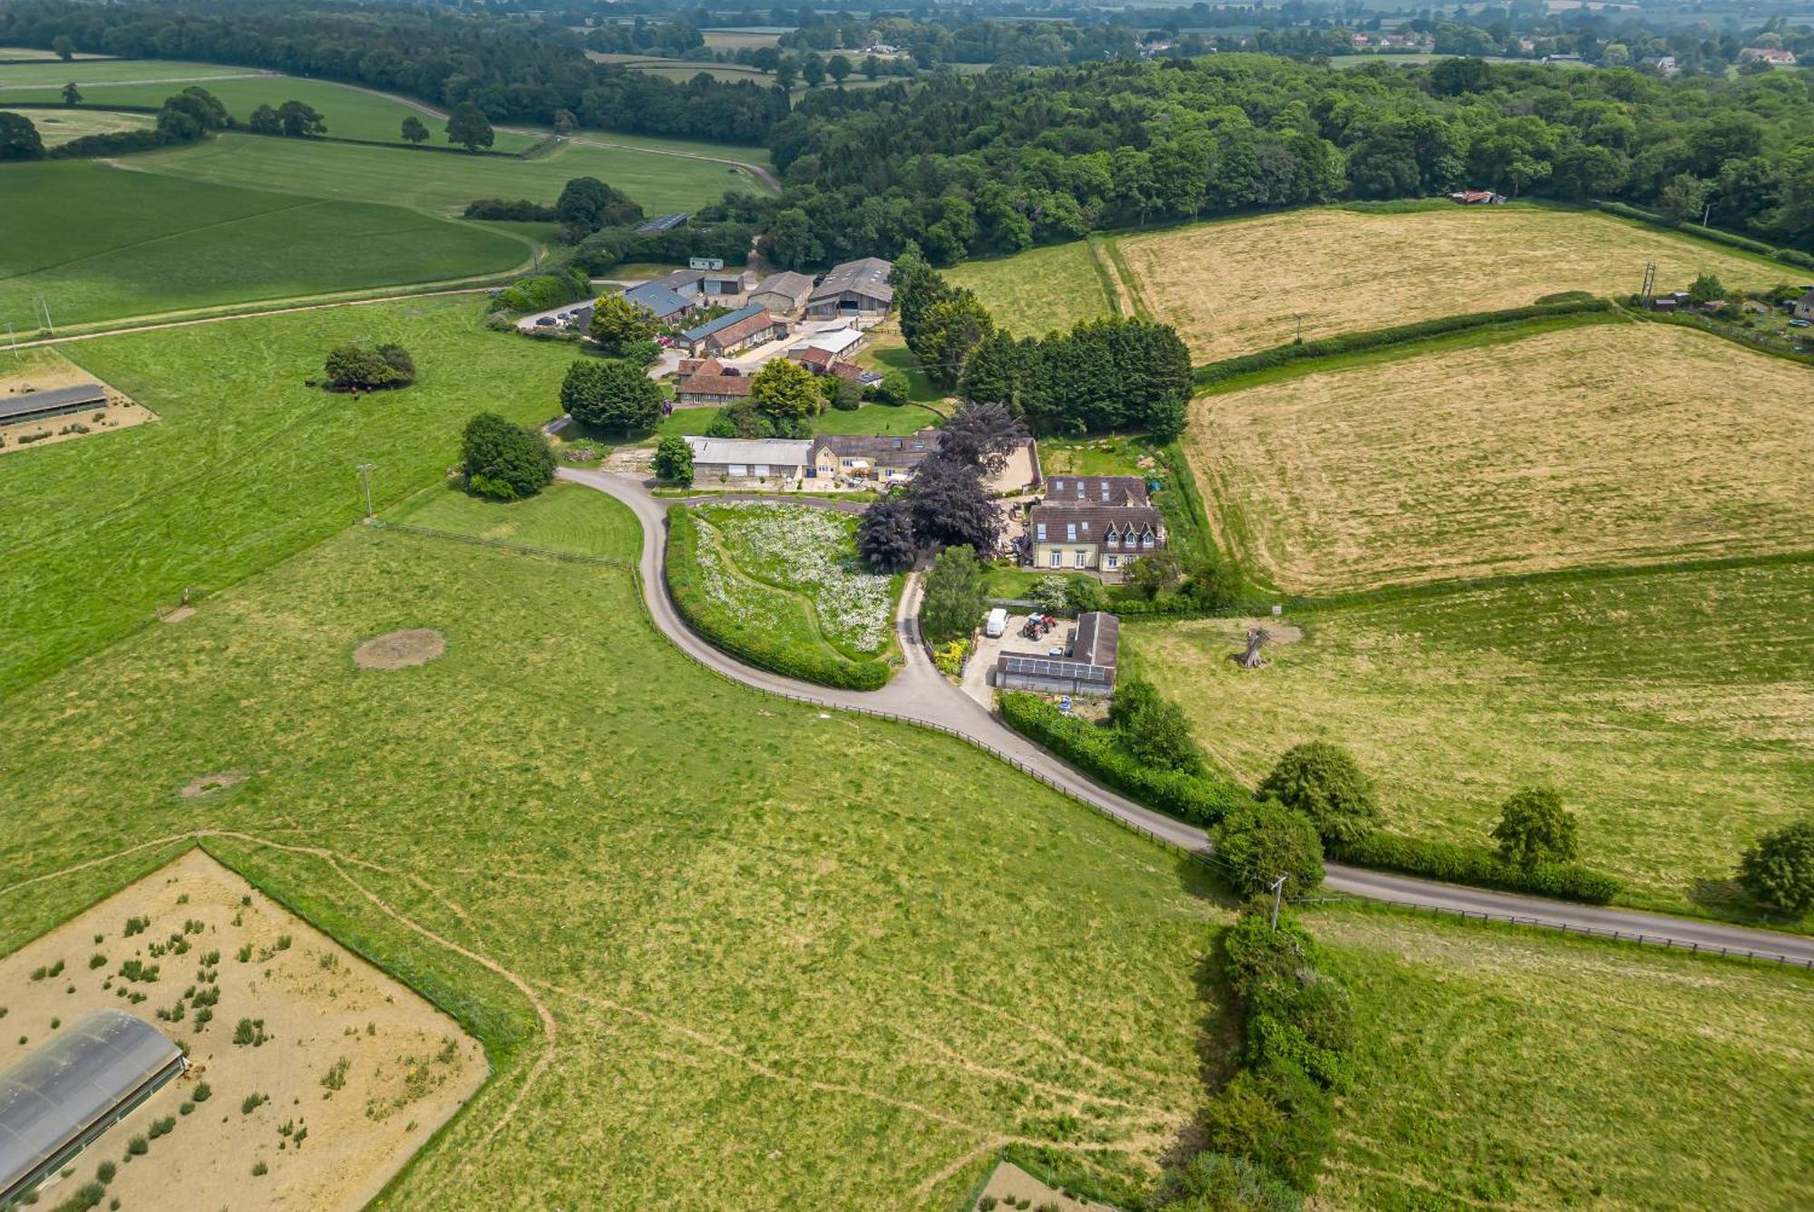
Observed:
[[[1210,396],[1185,445],[1223,539],[1337,593],[1807,548],[1805,367],[1600,323]]]

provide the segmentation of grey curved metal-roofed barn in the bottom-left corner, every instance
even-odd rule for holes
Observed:
[[[0,1205],[82,1152],[185,1065],[151,1023],[96,1011],[0,1072]]]

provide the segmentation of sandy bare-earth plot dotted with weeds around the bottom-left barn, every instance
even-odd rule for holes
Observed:
[[[0,1067],[98,1009],[189,1045],[190,1070],[42,1188],[45,1207],[112,1161],[125,1208],[359,1208],[486,1076],[452,1018],[200,849],[0,960]],[[140,1136],[149,1154],[129,1158]]]

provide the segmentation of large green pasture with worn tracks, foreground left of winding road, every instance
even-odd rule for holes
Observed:
[[[1007,1139],[1150,1178],[1223,1063],[1201,876],[954,738],[695,666],[637,593],[356,526],[13,699],[0,951],[160,838],[245,835],[209,845],[488,1045],[386,1207],[954,1207]],[[357,670],[395,628],[444,655]],[[176,795],[210,771],[247,780]]]

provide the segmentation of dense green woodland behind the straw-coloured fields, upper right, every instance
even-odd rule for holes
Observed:
[[[1114,62],[822,91],[775,125],[785,265],[1016,252],[1112,225],[1455,187],[1624,200],[1814,247],[1807,73],[1268,56]]]

